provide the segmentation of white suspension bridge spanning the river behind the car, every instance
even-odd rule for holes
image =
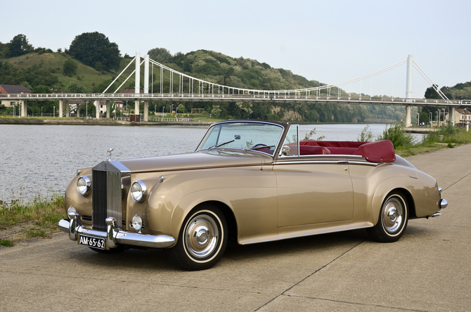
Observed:
[[[134,63],[135,69],[128,75],[126,79],[114,91],[110,90],[111,86],[122,77],[124,72]],[[394,94],[394,68],[401,65],[407,65],[406,70],[406,94],[404,98],[396,98],[394,96],[383,96],[383,86],[381,84],[381,95],[373,96],[373,77],[379,76],[392,71],[392,93]],[[141,67],[144,65],[143,74],[143,93],[141,92]],[[152,75],[150,74],[150,65],[152,65]],[[160,72],[160,88],[154,92],[153,86],[155,85],[153,79],[155,77],[154,67]],[[432,88],[437,91],[441,99],[425,99],[425,98],[412,98],[412,73],[413,68],[417,70],[422,77],[427,81]],[[122,86],[134,76],[135,92],[134,93],[119,93]],[[164,77],[167,77],[167,83],[164,82]],[[361,92],[351,93],[344,89],[351,86],[356,82],[368,82],[370,79],[370,95],[367,96]],[[152,89],[149,93],[149,82]],[[158,82],[157,86],[159,86]],[[165,86],[164,86],[165,83]],[[165,87],[165,88],[164,88]],[[344,89],[342,89],[344,88]],[[168,92],[164,93],[164,89]],[[109,91],[112,91],[110,93]],[[27,101],[28,100],[58,100],[59,109],[58,116],[63,117],[63,108],[66,110],[66,115],[70,110],[68,105],[69,100],[82,100],[83,103],[93,102],[96,105],[96,118],[100,117],[99,105],[101,101],[105,101],[107,118],[110,118],[110,101],[116,100],[134,100],[135,112],[139,112],[140,102],[144,103],[143,121],[148,121],[148,103],[149,101],[175,101],[175,102],[252,102],[252,103],[323,103],[323,104],[361,104],[361,105],[401,105],[406,107],[406,126],[411,126],[411,108],[412,106],[434,106],[440,108],[449,108],[451,115],[450,122],[455,124],[454,110],[456,108],[467,107],[471,105],[470,100],[449,100],[442,93],[437,84],[432,82],[432,79],[425,74],[425,72],[413,60],[413,56],[408,56],[406,60],[402,60],[392,66],[383,70],[367,74],[356,79],[340,82],[337,84],[328,84],[323,86],[316,86],[304,89],[292,90],[254,90],[236,88],[233,86],[225,86],[208,82],[203,79],[192,77],[183,72],[174,70],[166,65],[157,63],[155,60],[149,58],[148,55],[141,57],[140,53],[136,53],[136,57],[129,62],[127,67],[120,72],[115,80],[106,88],[102,93],[22,93],[22,94],[0,94],[0,98],[8,98],[11,100],[19,100],[21,103],[21,116],[26,117]],[[77,110],[77,117],[79,110]]]

